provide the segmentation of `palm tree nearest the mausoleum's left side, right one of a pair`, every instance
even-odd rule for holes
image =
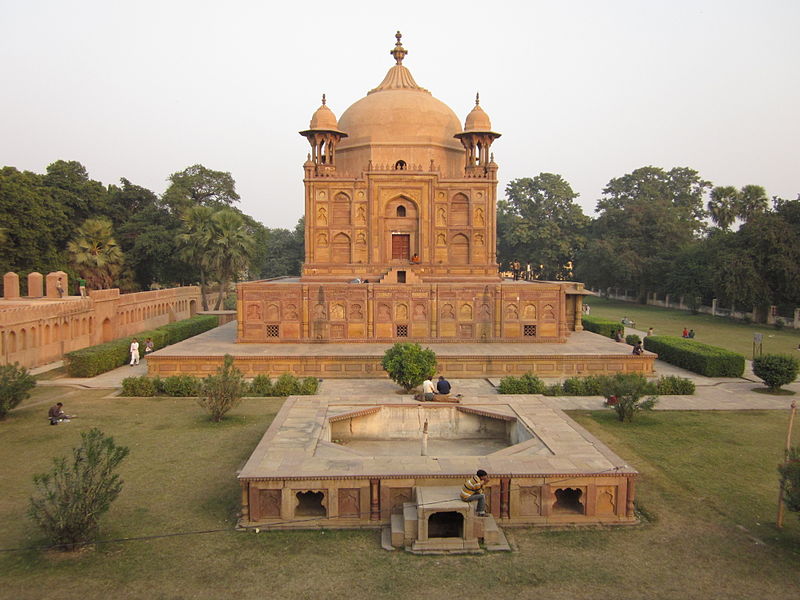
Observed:
[[[220,283],[220,293],[214,310],[222,305],[228,284],[247,268],[255,252],[255,240],[245,229],[242,215],[230,208],[223,208],[212,217],[213,238],[210,264],[213,265]]]

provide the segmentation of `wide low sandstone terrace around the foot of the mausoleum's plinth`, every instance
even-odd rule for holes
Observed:
[[[237,344],[236,323],[229,323],[151,354],[148,373],[213,373],[230,354],[248,377],[293,373],[298,377],[386,377],[380,361],[389,343]],[[532,372],[540,377],[604,373],[653,373],[652,352],[631,354],[631,347],[602,336],[573,332],[565,344],[519,342],[423,344],[436,352],[439,371],[453,378],[503,377]]]

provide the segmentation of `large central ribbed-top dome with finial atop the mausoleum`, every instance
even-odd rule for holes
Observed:
[[[348,137],[336,147],[337,166],[356,175],[370,164],[393,165],[402,160],[428,168],[433,161],[444,176],[463,174],[464,148],[456,137],[463,133],[460,119],[417,85],[403,66],[408,51],[399,31],[395,37],[397,43],[390,52],[395,64],[377,87],[339,119],[339,129]],[[481,123],[488,123],[486,113],[479,110],[485,117]]]

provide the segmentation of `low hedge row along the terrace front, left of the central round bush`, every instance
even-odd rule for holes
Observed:
[[[203,379],[193,375],[159,377],[126,377],[122,380],[122,395],[130,397],[196,397],[200,395]],[[245,396],[311,396],[317,393],[316,377],[298,379],[290,373],[278,377],[273,383],[266,375],[257,375],[247,384]]]

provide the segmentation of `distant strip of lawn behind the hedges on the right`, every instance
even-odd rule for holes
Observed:
[[[698,341],[739,352],[750,359],[753,357],[753,334],[763,333],[764,354],[791,354],[800,358],[800,351],[797,350],[800,330],[797,329],[778,330],[768,325],[746,325],[711,315],[693,315],[686,310],[607,300],[599,296],[591,296],[586,300],[592,307],[593,317],[619,322],[627,316],[636,323],[636,329],[647,331],[648,327],[652,327],[656,335],[680,336],[684,327],[694,329]]]

